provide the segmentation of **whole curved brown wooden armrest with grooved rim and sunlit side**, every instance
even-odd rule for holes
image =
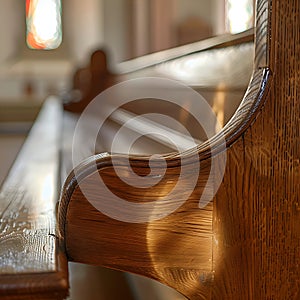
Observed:
[[[227,147],[257,115],[268,78],[267,69],[254,73],[239,110],[221,132]],[[101,154],[85,160],[66,180],[59,208],[68,259],[151,277],[191,299],[208,295],[214,277],[213,204],[200,209],[199,199],[214,189],[210,156],[221,146],[221,133],[193,151],[166,155],[165,175],[161,161],[151,161],[156,175],[146,179],[149,188],[124,183],[134,185],[136,175],[151,171],[149,157]],[[162,179],[155,184],[157,176]],[[133,205],[126,208],[120,201]]]

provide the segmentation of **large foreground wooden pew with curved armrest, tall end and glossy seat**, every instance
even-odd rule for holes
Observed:
[[[257,2],[253,76],[237,111],[228,122],[223,118],[221,132],[182,154],[167,152],[163,176],[157,159],[152,161],[156,175],[145,177],[148,155],[129,154],[129,162],[124,154],[88,157],[64,182],[58,231],[59,152],[66,155],[71,149],[66,140],[61,143],[58,119],[72,132],[78,117],[70,112],[60,117],[57,100],[47,101],[1,189],[1,298],[63,299],[68,260],[150,277],[189,299],[298,299],[299,8],[296,0]],[[137,76],[131,75],[126,73],[127,78]],[[134,108],[126,109],[135,113]],[[222,134],[225,174],[213,200],[199,208],[224,162]],[[200,170],[195,168],[199,162]],[[131,187],[121,180],[134,176],[129,163],[146,183],[162,179],[150,188]],[[168,205],[186,201],[162,219],[118,221],[97,210],[82,192],[90,193],[94,205],[102,201],[113,211],[99,175],[127,202],[160,205],[146,210],[150,218],[165,211],[166,203],[159,200],[167,195]],[[196,187],[186,195],[193,178]],[[177,193],[169,194],[177,182]]]

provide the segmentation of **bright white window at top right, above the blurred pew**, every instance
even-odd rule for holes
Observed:
[[[253,27],[253,0],[227,0],[227,31],[238,33]]]

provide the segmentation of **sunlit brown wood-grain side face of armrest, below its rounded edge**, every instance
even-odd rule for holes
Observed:
[[[122,164],[122,161],[120,160],[119,163]],[[149,188],[144,189],[141,194],[139,189],[129,190],[120,179],[117,180],[109,160],[105,163],[105,158],[103,158],[101,165],[100,174],[109,188],[115,193],[127,190],[126,199],[134,203],[156,201],[166,193],[166,189],[174,188],[173,185],[176,182],[174,177],[177,177],[169,171],[170,174],[156,186],[155,193]],[[89,179],[87,179],[84,174],[87,169],[88,166],[85,166],[82,170],[81,188],[87,188],[92,192],[90,196],[93,201],[105,201],[109,194],[105,192],[105,189],[102,190],[101,186],[99,189],[98,172],[89,174]],[[126,161],[119,171],[125,174],[128,172]],[[207,172],[207,167],[203,166],[203,181],[207,178]],[[189,180],[189,176],[186,175],[181,182],[179,190],[181,196],[177,201],[186,197],[186,186]],[[176,214],[149,224],[134,224],[113,220],[100,214],[90,202],[82,201],[85,197],[81,189],[77,185],[70,184],[66,193],[72,194],[72,198],[68,206],[61,207],[60,214],[61,218],[65,218],[60,222],[65,224],[68,259],[149,276],[177,288],[184,294],[187,294],[189,288],[193,287],[193,290],[200,291],[205,298],[209,292],[206,281],[210,281],[212,276],[212,206],[208,205],[203,210],[196,209],[202,189],[203,186],[199,184],[189,201]],[[174,199],[166,199],[164,205],[171,204],[174,204]],[[67,209],[66,212],[63,212],[64,207]],[[156,209],[159,210],[159,207]],[[136,217],[138,218],[138,215]],[[187,230],[189,228],[197,229]],[[96,233],[96,236],[92,237],[91,232]],[[186,236],[189,237],[191,243],[185,244]],[[191,246],[193,244],[199,245],[196,255],[194,247]],[[83,253],[89,253],[89,255],[83,255]],[[182,272],[179,272],[179,269]],[[204,283],[198,280],[200,277],[203,278]],[[181,285],[180,288],[182,282],[186,282],[187,286]]]

